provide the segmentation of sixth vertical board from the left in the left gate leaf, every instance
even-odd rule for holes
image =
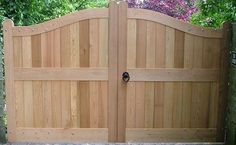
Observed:
[[[65,26],[60,30],[60,48],[61,48],[61,67],[70,67],[71,49],[70,49],[70,27]],[[71,126],[71,87],[70,81],[61,81],[61,118],[62,127]]]

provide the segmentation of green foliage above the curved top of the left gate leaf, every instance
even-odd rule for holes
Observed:
[[[88,7],[104,7],[106,0],[0,0],[4,17],[15,25],[32,25]]]

